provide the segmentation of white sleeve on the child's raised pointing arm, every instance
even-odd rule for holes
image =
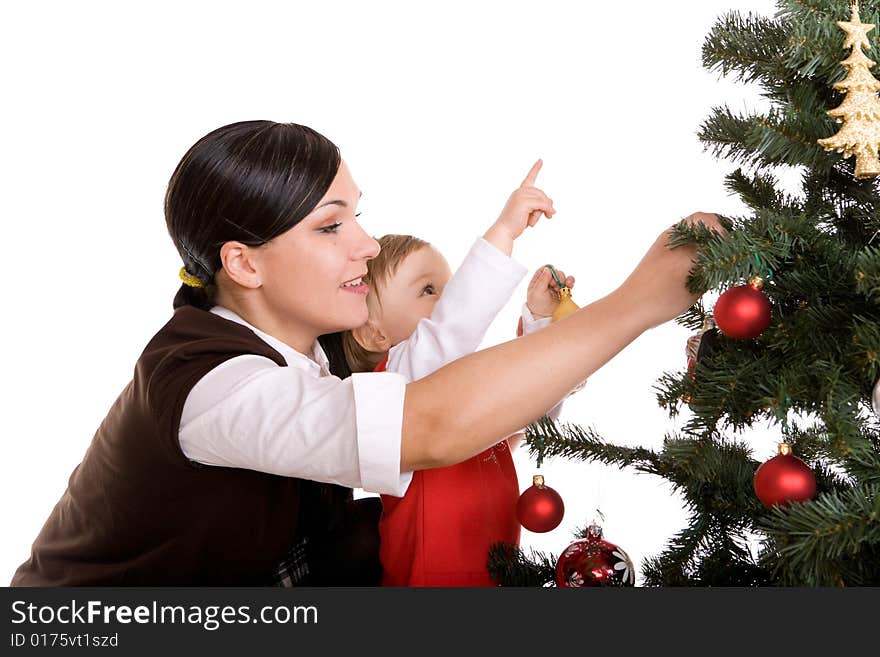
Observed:
[[[479,238],[443,289],[431,316],[388,352],[386,371],[417,381],[480,346],[526,268]]]

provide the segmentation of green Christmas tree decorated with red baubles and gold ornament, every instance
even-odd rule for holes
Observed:
[[[878,22],[880,0],[852,8],[781,0],[773,18],[734,12],[717,21],[704,66],[759,85],[769,109],[716,108],[699,138],[739,166],[726,185],[750,214],[725,219],[727,240],[680,225],[674,243],[697,245],[692,289],[750,300],[719,312],[722,295],[714,309],[701,302],[678,319],[698,331],[693,358],[662,375],[658,401],[671,417],[686,408],[690,417],[661,450],[617,446],[565,423],[529,428],[538,458],[633,468],[681,493],[688,524],[641,565],[649,586],[880,584],[880,423],[871,405],[880,374],[880,83],[869,58]],[[798,192],[783,191],[785,170],[798,172]],[[762,299],[766,328],[732,337],[737,322],[752,321],[736,313]],[[761,464],[747,434],[764,421],[778,423],[779,442],[812,471],[802,499],[783,494],[774,504],[756,480]],[[502,584],[542,585],[555,561],[499,546],[490,569]]]

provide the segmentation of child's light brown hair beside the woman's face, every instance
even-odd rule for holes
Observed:
[[[367,261],[367,275],[364,276],[364,282],[370,286],[367,307],[371,317],[374,310],[382,305],[380,287],[394,275],[409,254],[430,246],[428,242],[412,235],[383,235],[377,241],[381,247],[379,255]],[[361,346],[351,331],[342,334],[342,348],[352,372],[372,372],[385,357],[384,352],[369,351]]]

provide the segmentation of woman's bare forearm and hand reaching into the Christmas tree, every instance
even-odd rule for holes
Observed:
[[[714,214],[701,221],[724,232]],[[546,329],[461,358],[406,387],[401,471],[458,463],[542,415],[644,331],[699,298],[685,282],[695,247],[664,231],[614,292]]]

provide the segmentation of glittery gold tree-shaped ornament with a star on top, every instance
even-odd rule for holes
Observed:
[[[856,156],[856,178],[873,178],[880,175],[880,160],[877,147],[880,144],[880,91],[878,81],[870,71],[876,64],[871,61],[862,48],[870,48],[868,32],[874,29],[871,23],[862,23],[859,18],[858,1],[850,3],[852,15],[849,21],[837,24],[846,32],[844,49],[852,48],[852,53],[843,66],[849,71],[846,78],[835,83],[834,88],[846,93],[839,107],[829,110],[828,115],[843,127],[837,134],[818,143],[826,151],[843,153],[843,157]]]

